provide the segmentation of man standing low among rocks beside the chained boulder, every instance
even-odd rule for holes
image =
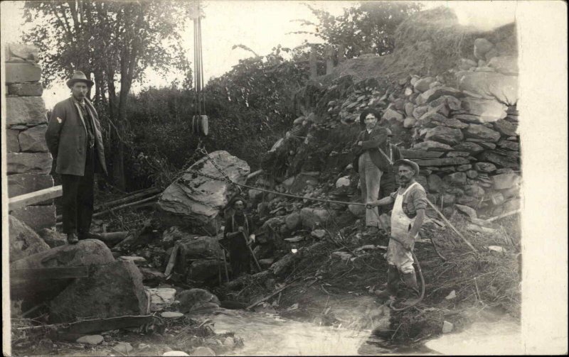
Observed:
[[[242,273],[251,271],[250,244],[255,241],[255,230],[251,218],[245,214],[245,199],[235,196],[230,199],[228,207],[233,207],[233,214],[225,219],[225,231],[223,240],[228,241],[231,272],[233,279]]]

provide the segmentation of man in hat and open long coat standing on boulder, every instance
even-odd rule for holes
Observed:
[[[70,244],[89,238],[95,173],[107,175],[101,125],[87,99],[92,85],[83,72],[76,71],[67,81],[72,95],[55,104],[46,131],[55,172],[61,175],[63,233]]]

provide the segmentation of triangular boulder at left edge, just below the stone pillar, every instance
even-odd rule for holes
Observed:
[[[48,251],[50,248],[27,224],[13,216],[9,216],[9,235],[10,262]]]

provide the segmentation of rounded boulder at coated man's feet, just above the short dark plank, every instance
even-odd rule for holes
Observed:
[[[46,251],[33,254],[33,256],[27,256],[26,258],[16,260],[10,264],[10,268],[33,269],[73,267],[106,264],[113,261],[115,261],[115,258],[112,257],[112,253],[105,243],[97,239],[85,239],[83,241],[79,241],[77,244],[58,246],[57,248],[51,248]]]

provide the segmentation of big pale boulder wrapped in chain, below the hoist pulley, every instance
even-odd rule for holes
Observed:
[[[240,184],[245,183],[250,172],[250,167],[245,161],[223,150],[214,151],[209,156],[230,180]],[[208,158],[199,160],[188,170],[223,177]],[[198,229],[197,227],[214,226],[220,209],[225,207],[229,197],[234,193],[235,187],[228,182],[186,172],[162,192],[158,207],[164,221],[172,225]]]

